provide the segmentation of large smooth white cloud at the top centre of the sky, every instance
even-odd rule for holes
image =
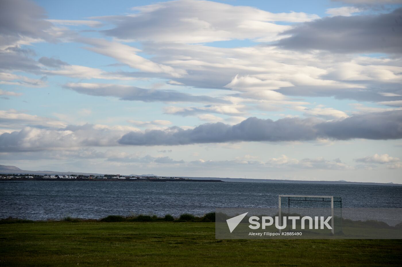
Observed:
[[[133,8],[135,14],[95,17],[116,27],[103,31],[120,39],[201,43],[222,40],[269,38],[290,28],[276,21],[304,22],[319,16],[303,12],[271,13],[250,6],[212,1],[178,0]]]

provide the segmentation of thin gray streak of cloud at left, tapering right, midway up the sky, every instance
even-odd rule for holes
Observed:
[[[172,90],[143,89],[135,86],[100,84],[100,83],[68,83],[64,88],[78,93],[95,96],[113,96],[121,100],[144,102],[207,102],[226,103],[226,101],[206,95],[190,95]]]

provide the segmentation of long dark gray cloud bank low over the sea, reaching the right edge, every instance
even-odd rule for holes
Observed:
[[[284,118],[273,121],[250,117],[239,124],[206,123],[194,129],[171,127],[168,130],[130,132],[118,142],[134,146],[186,145],[240,141],[308,141],[316,138],[349,140],[402,138],[402,111],[355,115],[339,121]]]

